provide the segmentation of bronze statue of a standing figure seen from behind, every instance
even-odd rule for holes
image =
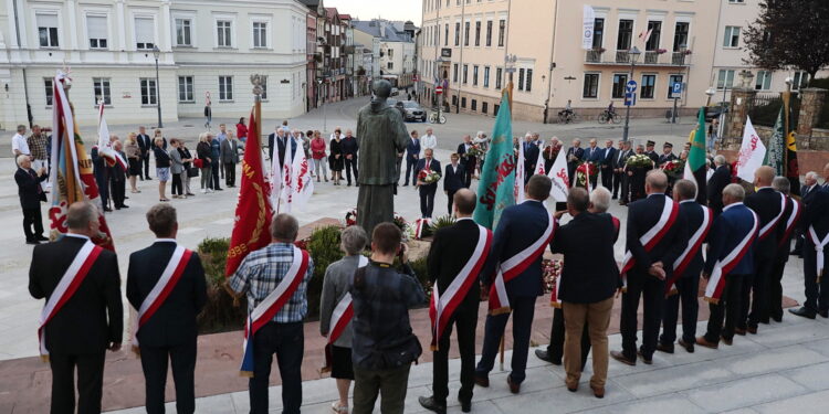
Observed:
[[[377,224],[395,219],[395,185],[400,178],[397,153],[405,151],[409,144],[400,112],[386,103],[391,95],[391,84],[377,81],[372,89],[371,103],[357,114],[360,149],[357,224],[369,235]]]

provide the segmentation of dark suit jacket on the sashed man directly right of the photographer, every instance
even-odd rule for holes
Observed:
[[[472,220],[461,220],[434,233],[427,264],[429,282],[436,283],[437,280],[438,290],[441,294],[447,290],[472,256],[479,234],[478,224]],[[481,288],[475,280],[458,309],[470,309],[478,314],[480,297]]]

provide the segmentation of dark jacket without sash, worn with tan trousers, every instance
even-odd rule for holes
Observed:
[[[609,214],[580,213],[556,230],[550,251],[564,254],[559,287],[563,301],[595,304],[613,296],[619,283],[615,238]]]

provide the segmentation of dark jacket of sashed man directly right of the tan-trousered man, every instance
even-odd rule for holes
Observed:
[[[665,273],[670,275],[673,262],[685,250],[688,225],[682,214],[676,215],[676,222],[650,252],[646,252],[644,246],[639,241],[639,237],[651,230],[659,221],[665,198],[664,194],[651,194],[628,205],[627,248],[636,259],[633,274],[647,275],[648,268],[653,263],[662,262]]]

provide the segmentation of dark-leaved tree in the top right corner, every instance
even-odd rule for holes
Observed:
[[[760,0],[759,7],[745,31],[745,63],[772,71],[796,67],[810,82],[829,66],[829,1]]]

